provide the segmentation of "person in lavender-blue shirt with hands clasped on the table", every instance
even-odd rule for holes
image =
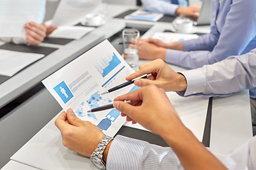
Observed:
[[[139,40],[139,58],[196,69],[220,62],[231,55],[243,55],[256,47],[256,1],[211,0],[210,33],[193,40],[164,43]],[[250,89],[252,125],[256,125],[256,90]]]

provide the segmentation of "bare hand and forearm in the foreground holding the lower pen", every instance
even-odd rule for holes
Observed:
[[[125,103],[130,100],[132,103]],[[225,169],[225,166],[188,130],[163,90],[154,85],[114,98],[114,108],[163,137],[174,150],[184,169]]]

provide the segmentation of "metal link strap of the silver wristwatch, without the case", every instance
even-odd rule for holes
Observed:
[[[100,141],[100,143],[97,145],[96,149],[94,152],[92,152],[92,154],[90,155],[91,157],[98,157],[99,159],[102,160],[102,162],[104,162],[104,160],[102,159],[102,154],[105,150],[105,147],[107,146],[107,144],[113,140],[113,137],[110,136],[105,136],[103,137],[103,139]],[[105,163],[105,162],[104,162]]]

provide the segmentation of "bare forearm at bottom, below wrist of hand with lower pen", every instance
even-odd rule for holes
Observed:
[[[175,134],[161,136],[174,150],[184,169],[226,169],[184,125],[177,125],[175,131]]]

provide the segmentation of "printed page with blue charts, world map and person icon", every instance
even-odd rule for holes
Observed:
[[[139,88],[132,84],[101,95],[126,82],[125,77],[133,72],[117,50],[105,40],[42,82],[64,111],[72,108],[78,118],[88,120],[106,135],[114,136],[125,122],[117,109],[95,113],[87,111],[113,103],[115,97]]]

